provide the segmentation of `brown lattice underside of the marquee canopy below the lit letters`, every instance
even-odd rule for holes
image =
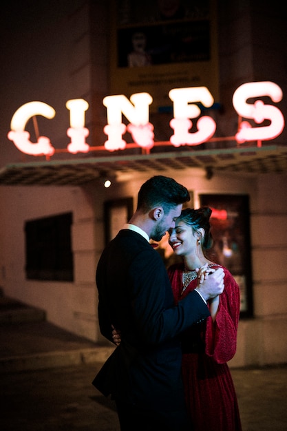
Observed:
[[[104,174],[162,174],[189,168],[209,173],[287,173],[287,147],[246,147],[202,151],[172,151],[70,160],[23,162],[0,169],[0,185],[84,185]]]

